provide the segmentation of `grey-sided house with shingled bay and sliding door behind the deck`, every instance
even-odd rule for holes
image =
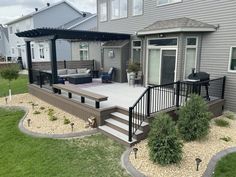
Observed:
[[[133,35],[130,55],[145,83],[185,80],[191,69],[226,76],[236,111],[236,1],[97,0],[98,31]]]

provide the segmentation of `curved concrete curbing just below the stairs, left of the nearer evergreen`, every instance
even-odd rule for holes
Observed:
[[[129,161],[130,153],[132,148],[126,149],[126,151],[121,156],[122,167],[133,177],[146,177],[144,174],[139,172]]]

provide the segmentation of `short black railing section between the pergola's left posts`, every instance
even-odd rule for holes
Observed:
[[[52,74],[40,70],[32,70],[33,83],[40,86],[40,88],[51,88]]]

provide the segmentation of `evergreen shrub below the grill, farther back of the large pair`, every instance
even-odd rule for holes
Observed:
[[[191,95],[186,105],[181,107],[178,120],[178,131],[185,141],[194,141],[205,137],[209,132],[207,104],[198,95]]]

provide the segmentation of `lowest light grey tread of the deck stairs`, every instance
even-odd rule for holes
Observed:
[[[119,138],[120,140],[122,140],[126,143],[129,143],[129,144],[134,143],[134,142],[137,141],[136,139],[132,138],[132,142],[129,142],[128,141],[128,135],[126,135],[124,133],[121,133],[121,132],[119,132],[119,131],[117,131],[117,130],[115,130],[115,129],[107,126],[107,125],[99,126],[99,129],[101,129],[101,130],[109,133],[110,135],[115,136],[115,137]]]

